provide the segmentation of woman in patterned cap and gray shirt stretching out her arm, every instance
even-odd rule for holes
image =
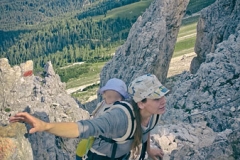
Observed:
[[[160,148],[150,148],[150,131],[157,124],[159,115],[165,112],[165,95],[169,90],[155,75],[146,74],[133,80],[128,92],[130,102],[117,101],[104,114],[93,119],[52,123],[20,112],[10,117],[9,121],[30,124],[32,128],[29,133],[45,131],[61,137],[81,139],[100,137],[99,143],[88,151],[86,160],[126,160],[130,153],[132,158],[140,157],[138,159],[143,160],[145,151],[154,160],[162,158],[163,151]]]

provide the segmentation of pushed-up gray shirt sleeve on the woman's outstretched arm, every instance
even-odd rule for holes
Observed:
[[[102,135],[108,138],[122,137],[128,128],[128,117],[120,108],[113,108],[98,118],[81,120],[78,122],[79,137],[98,137]]]

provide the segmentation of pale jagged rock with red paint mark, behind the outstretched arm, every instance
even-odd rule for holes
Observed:
[[[27,111],[51,122],[77,121],[89,117],[65,91],[51,63],[42,76],[34,76],[33,63],[11,67],[0,59],[0,159],[73,159],[78,139],[60,138],[48,133],[28,134],[28,125],[8,124],[8,117]],[[7,125],[7,126],[6,126]],[[71,145],[69,145],[71,144]]]

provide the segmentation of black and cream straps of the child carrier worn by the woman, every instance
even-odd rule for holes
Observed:
[[[101,138],[102,140],[108,142],[108,143],[112,143],[113,147],[112,147],[112,154],[111,154],[111,160],[114,160],[115,159],[115,154],[116,154],[116,150],[117,150],[117,145],[119,143],[125,143],[127,140],[131,140],[133,139],[134,137],[134,132],[136,130],[136,121],[135,121],[135,115],[134,115],[134,111],[133,111],[133,108],[132,108],[132,105],[130,105],[129,103],[125,102],[125,101],[116,101],[111,107],[109,107],[108,109],[106,109],[105,111],[110,111],[111,109],[113,108],[121,108],[125,113],[126,115],[128,116],[128,119],[131,119],[131,121],[128,121],[128,129],[127,129],[127,132],[124,136],[122,136],[121,138],[114,138],[114,139],[111,139],[111,138],[107,138],[107,137],[104,137],[102,135],[100,135],[98,138]],[[104,111],[104,112],[105,112]],[[149,129],[144,132],[143,134],[146,134],[148,133],[150,130],[152,130],[155,125],[157,124],[159,120],[159,115],[153,115],[153,123],[151,124],[151,126],[149,127]],[[89,139],[88,139],[89,140]],[[92,142],[93,143],[93,142]],[[91,143],[91,144],[92,144]],[[85,147],[86,149],[86,152],[83,154],[85,155],[88,150],[90,149],[91,147]],[[142,153],[141,153],[141,157],[144,158],[145,156],[145,151],[146,151],[146,146],[143,145],[143,148],[142,148]],[[83,156],[82,155],[82,156]],[[80,157],[82,157],[80,156]],[[141,159],[140,157],[140,159]]]

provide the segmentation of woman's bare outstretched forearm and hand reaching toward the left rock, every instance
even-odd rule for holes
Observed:
[[[47,123],[44,122],[27,112],[20,112],[9,118],[10,122],[26,122],[31,125],[29,133],[46,131],[56,136],[75,138],[79,136],[77,123],[74,122],[59,122]]]

